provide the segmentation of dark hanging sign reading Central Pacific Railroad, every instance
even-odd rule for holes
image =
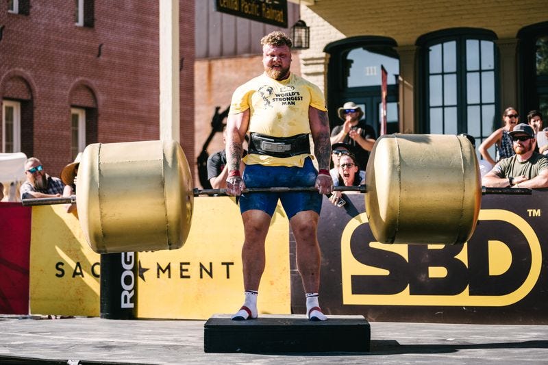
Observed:
[[[215,0],[215,10],[287,28],[287,0]]]

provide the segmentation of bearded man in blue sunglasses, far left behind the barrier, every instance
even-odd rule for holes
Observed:
[[[21,185],[21,199],[61,197],[64,184],[58,177],[51,177],[44,171],[38,158],[25,162],[27,180]]]

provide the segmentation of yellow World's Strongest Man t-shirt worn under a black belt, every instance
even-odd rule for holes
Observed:
[[[320,88],[302,77],[290,74],[282,81],[262,74],[238,87],[232,95],[229,114],[250,110],[249,132],[272,137],[290,137],[310,134],[308,107],[323,112],[325,98]],[[250,153],[245,164],[302,167],[309,153],[290,158]]]

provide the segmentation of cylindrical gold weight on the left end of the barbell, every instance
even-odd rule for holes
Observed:
[[[76,190],[84,236],[97,253],[178,249],[190,231],[192,189],[174,140],[90,144]]]

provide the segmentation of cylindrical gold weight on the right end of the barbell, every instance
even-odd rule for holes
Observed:
[[[379,242],[460,244],[473,234],[481,175],[464,136],[382,136],[369,157],[366,186],[366,214]]]

